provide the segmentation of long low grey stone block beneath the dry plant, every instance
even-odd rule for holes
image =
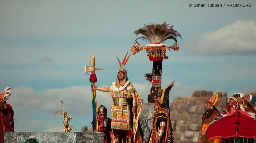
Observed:
[[[29,136],[40,143],[95,143],[103,142],[103,133],[85,132],[5,132],[4,143],[23,143]]]

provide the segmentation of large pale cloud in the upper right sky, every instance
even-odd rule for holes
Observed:
[[[256,21],[236,21],[216,31],[192,36],[184,44],[190,54],[254,54],[256,47]]]

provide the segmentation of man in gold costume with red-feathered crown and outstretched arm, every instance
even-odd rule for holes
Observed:
[[[122,64],[117,58],[120,68],[118,69],[116,82],[113,82],[107,88],[95,86],[95,89],[109,92],[113,99],[111,129],[115,142],[122,142],[121,140],[125,137],[125,142],[140,143],[143,142],[143,132],[139,123],[142,101],[128,80],[127,71],[123,68],[130,57],[129,55],[126,59],[126,56]]]

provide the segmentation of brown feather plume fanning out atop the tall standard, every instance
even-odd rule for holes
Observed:
[[[151,43],[163,43],[167,39],[172,39],[177,43],[177,37],[181,37],[180,33],[173,29],[173,25],[169,26],[164,22],[163,24],[145,25],[145,27],[134,31],[134,34],[142,34],[144,36],[137,39],[148,40]],[[137,40],[136,39],[136,40]]]

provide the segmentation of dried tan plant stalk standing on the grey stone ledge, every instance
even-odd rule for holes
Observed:
[[[64,120],[64,121],[63,121],[64,132],[70,132],[70,131],[73,129],[73,127],[69,125],[69,121],[72,119],[72,117],[70,116],[70,117],[68,118],[68,112],[66,112],[66,111],[64,110],[64,102],[63,102],[62,99],[60,100],[60,103],[61,103],[63,109],[62,109],[62,110],[55,111],[55,112],[53,113],[53,116],[57,116],[57,113],[59,113],[59,114],[61,115],[62,119]]]

